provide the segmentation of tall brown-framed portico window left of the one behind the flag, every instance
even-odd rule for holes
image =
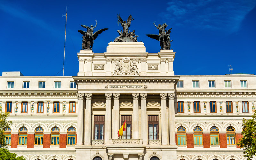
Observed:
[[[94,115],[94,140],[104,140],[104,117]]]

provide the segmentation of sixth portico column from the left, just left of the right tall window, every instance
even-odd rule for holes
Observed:
[[[142,144],[148,144],[147,93],[140,93]]]

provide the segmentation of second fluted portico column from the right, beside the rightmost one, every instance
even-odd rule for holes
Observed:
[[[166,106],[167,94],[160,94],[161,98],[161,131],[162,131],[162,145],[168,144],[168,117],[167,117],[167,106]]]

